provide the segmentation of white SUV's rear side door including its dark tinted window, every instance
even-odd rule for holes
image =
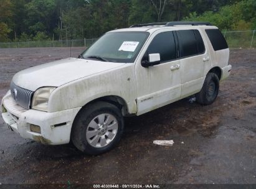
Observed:
[[[199,30],[176,31],[181,58],[181,98],[201,90],[204,82],[204,63],[210,58]]]

